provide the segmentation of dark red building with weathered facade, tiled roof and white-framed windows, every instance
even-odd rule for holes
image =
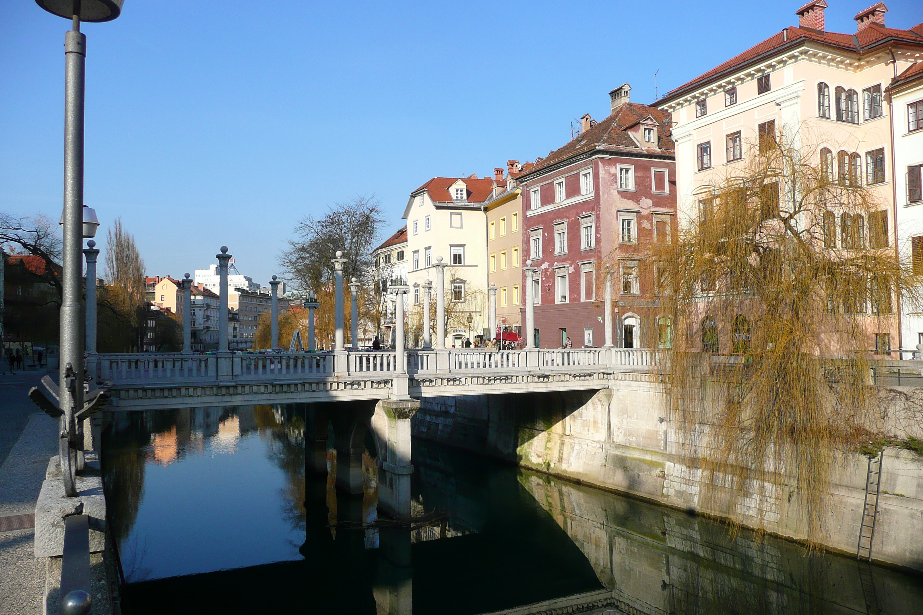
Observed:
[[[668,113],[630,102],[629,92],[628,84],[612,90],[605,120],[584,115],[579,136],[517,178],[522,260],[539,268],[533,301],[540,348],[560,348],[567,337],[573,348],[604,345],[606,271],[614,344],[670,343],[653,253],[677,230],[671,120]]]

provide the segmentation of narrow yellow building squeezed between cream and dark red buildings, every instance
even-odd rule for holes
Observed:
[[[487,280],[497,289],[497,326],[501,331],[519,333],[524,262],[521,190],[500,191],[485,202],[484,210],[487,214]],[[497,337],[497,332],[490,335]]]

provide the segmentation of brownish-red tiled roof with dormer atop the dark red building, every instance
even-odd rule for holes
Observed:
[[[641,148],[638,142],[626,132],[627,129],[639,124],[648,116],[652,116],[658,125],[656,148]],[[568,160],[596,148],[633,154],[646,152],[672,156],[674,146],[673,138],[670,136],[670,125],[669,113],[650,105],[626,102],[605,120],[593,125],[586,132],[572,139],[567,145],[549,152],[545,158],[535,159],[533,164],[528,162],[523,164],[520,176],[541,171],[562,160]]]

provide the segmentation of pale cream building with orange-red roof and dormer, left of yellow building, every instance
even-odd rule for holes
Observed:
[[[447,264],[448,348],[461,348],[466,337],[474,342],[474,337],[488,334],[487,217],[482,204],[494,195],[494,189],[489,177],[434,177],[411,193],[404,209],[410,310],[422,309],[421,287],[426,280],[434,284],[435,291],[434,265],[441,256]],[[412,336],[410,343],[414,341],[419,344]]]

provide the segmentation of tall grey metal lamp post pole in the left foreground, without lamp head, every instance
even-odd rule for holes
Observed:
[[[80,285],[83,273],[83,102],[87,37],[74,16],[74,30],[65,35],[64,107],[64,271],[62,275],[60,377],[61,469],[65,495],[76,497],[70,467],[70,442],[77,436],[74,412],[83,408],[83,337],[80,320],[83,305]],[[70,390],[70,395],[66,394]],[[65,458],[66,457],[66,458]]]

